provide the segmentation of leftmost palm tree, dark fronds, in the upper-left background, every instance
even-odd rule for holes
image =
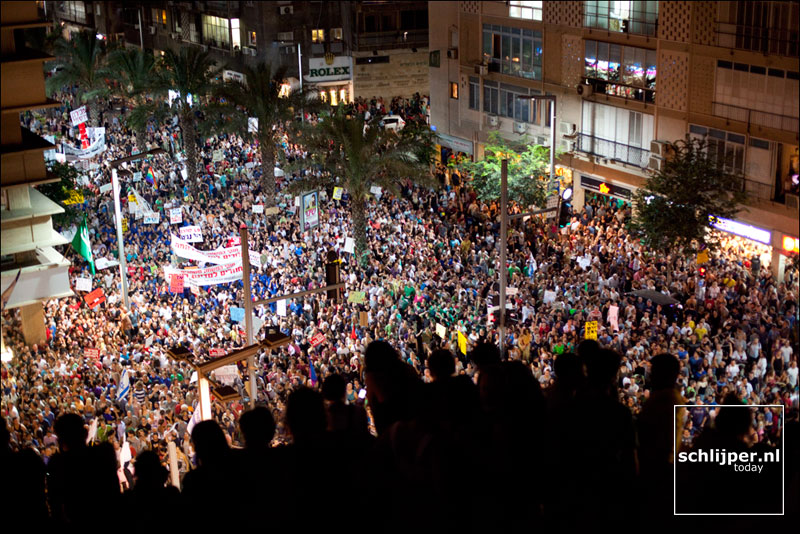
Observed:
[[[89,123],[97,126],[98,99],[108,95],[109,76],[107,50],[104,41],[92,31],[74,34],[67,41],[59,39],[54,47],[56,73],[47,80],[47,91],[52,94],[64,86],[78,87],[78,102],[89,106]]]

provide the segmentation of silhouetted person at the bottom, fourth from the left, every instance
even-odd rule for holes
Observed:
[[[220,499],[237,489],[236,465],[225,434],[216,421],[201,421],[192,430],[197,468],[183,478],[181,496],[188,524],[196,528],[223,528],[228,524],[219,510]]]

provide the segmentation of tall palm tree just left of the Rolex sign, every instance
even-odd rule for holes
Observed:
[[[295,110],[301,106],[312,105],[299,92],[281,95],[281,85],[286,77],[286,68],[279,67],[275,72],[267,63],[259,63],[254,68],[245,66],[242,70],[245,82],[226,83],[221,90],[232,105],[242,109],[249,118],[258,119],[258,139],[261,151],[262,190],[267,207],[275,206],[275,159],[280,129],[273,126],[291,120]]]

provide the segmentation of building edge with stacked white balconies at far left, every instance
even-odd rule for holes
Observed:
[[[36,2],[2,2],[2,290],[18,278],[5,308],[20,308],[28,344],[46,339],[42,302],[73,294],[70,263],[54,248],[68,243],[51,219],[64,208],[34,187],[58,180],[44,160],[44,151],[54,145],[20,124],[24,111],[59,105],[45,96],[42,64],[53,58],[24,46],[20,35],[46,25]]]

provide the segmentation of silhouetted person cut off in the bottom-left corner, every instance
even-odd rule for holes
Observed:
[[[0,472],[3,473],[3,514],[6,528],[27,526],[36,518],[47,525],[44,462],[31,448],[12,452],[5,419],[0,428]]]

